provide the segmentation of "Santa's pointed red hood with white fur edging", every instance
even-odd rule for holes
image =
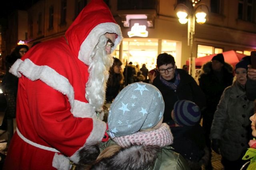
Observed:
[[[91,0],[70,25],[65,37],[75,57],[89,65],[90,55],[105,33],[117,35],[113,51],[122,40],[121,29],[103,0]]]

